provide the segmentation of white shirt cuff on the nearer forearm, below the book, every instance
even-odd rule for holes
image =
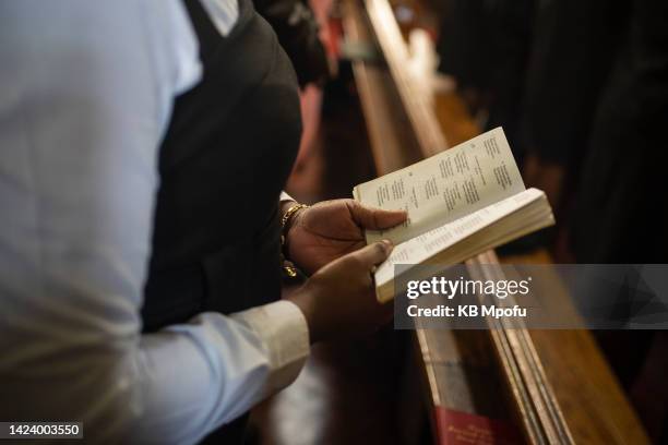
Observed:
[[[266,395],[293,383],[309,356],[309,327],[301,310],[287,300],[230,315],[253,329],[265,345],[271,372]]]

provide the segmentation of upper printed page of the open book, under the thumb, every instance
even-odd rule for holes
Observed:
[[[405,209],[395,228],[367,231],[367,242],[390,239],[396,245],[524,190],[520,170],[501,128],[420,163],[359,184],[365,205]]]

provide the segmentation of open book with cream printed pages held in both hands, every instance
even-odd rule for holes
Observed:
[[[375,270],[380,301],[394,298],[395,264],[461,263],[554,224],[545,193],[524,188],[501,128],[359,184],[353,195],[365,205],[408,212],[401,226],[367,231],[368,243],[394,243]]]

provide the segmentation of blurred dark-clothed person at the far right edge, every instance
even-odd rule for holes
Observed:
[[[578,262],[664,263],[668,4],[637,0],[592,120],[572,246]]]

